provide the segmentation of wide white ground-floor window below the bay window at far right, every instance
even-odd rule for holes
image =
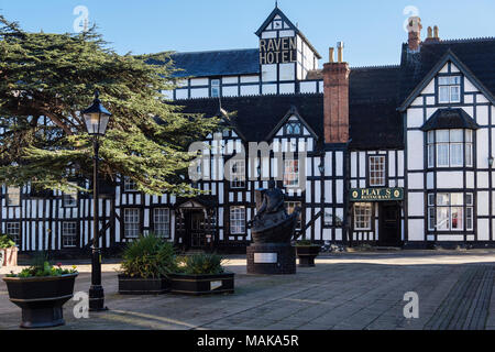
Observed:
[[[473,230],[473,194],[428,195],[428,229],[430,231]]]

